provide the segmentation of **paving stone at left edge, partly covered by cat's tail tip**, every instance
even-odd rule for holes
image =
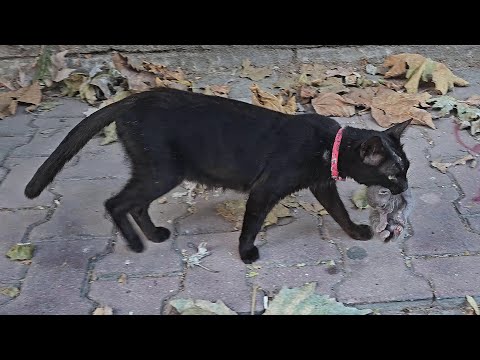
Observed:
[[[0,184],[0,206],[3,208],[21,208],[35,206],[50,206],[53,203],[54,195],[45,189],[39,197],[28,199],[23,192],[25,186],[33,177],[46,158],[9,158],[3,164],[10,169],[6,178]]]

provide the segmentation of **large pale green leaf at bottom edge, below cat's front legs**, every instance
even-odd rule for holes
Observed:
[[[282,287],[264,315],[366,315],[372,310],[346,307],[328,295],[315,293],[315,282],[298,288]]]

